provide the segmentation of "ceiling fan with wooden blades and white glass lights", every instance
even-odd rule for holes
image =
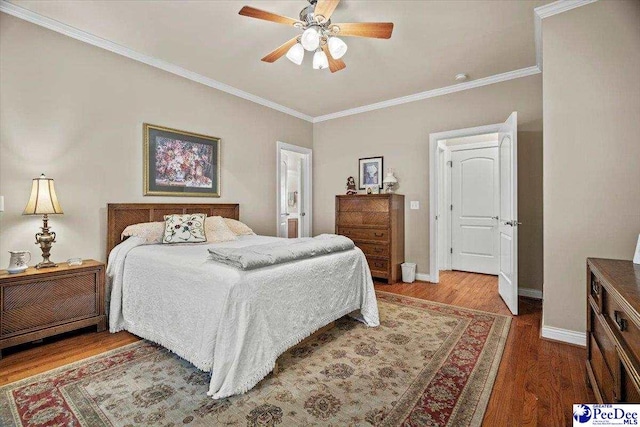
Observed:
[[[391,38],[392,22],[356,22],[334,24],[331,15],[340,0],[308,0],[309,6],[302,9],[300,19],[288,18],[251,6],[244,6],[239,14],[250,18],[263,19],[278,24],[291,25],[302,34],[298,35],[279,48],[267,54],[262,61],[275,62],[286,54],[294,64],[302,64],[304,51],[313,54],[313,68],[322,70],[329,68],[332,73],[346,67],[340,58],[347,52],[347,45],[339,36],[370,37],[376,39]]]

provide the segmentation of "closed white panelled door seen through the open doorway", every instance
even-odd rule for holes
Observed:
[[[498,147],[451,153],[451,268],[498,274]]]

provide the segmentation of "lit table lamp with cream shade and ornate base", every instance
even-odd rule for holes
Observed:
[[[53,187],[53,179],[42,174],[39,178],[33,179],[31,197],[22,212],[22,215],[43,215],[42,231],[36,233],[36,245],[40,245],[42,249],[42,262],[36,265],[36,268],[57,267],[49,260],[51,245],[56,241],[56,233],[49,231],[49,215],[53,214],[62,214],[62,208]]]

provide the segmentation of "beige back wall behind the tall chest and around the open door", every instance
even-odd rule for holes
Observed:
[[[405,195],[405,258],[429,273],[429,134],[500,123],[518,111],[520,286],[542,289],[542,78],[484,86],[317,123],[313,129],[314,233],[334,230],[334,197],[358,159],[384,156]],[[418,200],[420,210],[410,210]]]

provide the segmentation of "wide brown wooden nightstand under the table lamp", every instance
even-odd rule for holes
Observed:
[[[94,260],[9,274],[0,270],[0,358],[2,349],[96,325],[107,327],[105,266]]]

